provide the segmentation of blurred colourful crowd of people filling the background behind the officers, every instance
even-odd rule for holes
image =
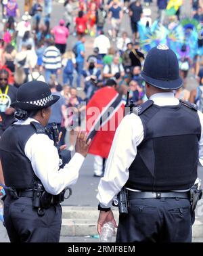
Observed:
[[[81,116],[85,116],[81,102],[88,103],[95,91],[104,87],[108,79],[116,81],[119,85],[117,91],[123,98],[129,90],[135,105],[145,102],[145,85],[140,76],[145,56],[153,43],[165,43],[158,37],[158,32],[165,28],[175,30],[180,24],[185,29],[181,30],[183,38],[181,42],[179,38],[174,38],[173,49],[179,56],[179,70],[184,85],[175,94],[177,98],[189,100],[198,104],[200,109],[203,108],[202,39],[196,40],[196,53],[194,48],[187,45],[188,33],[196,32],[200,35],[197,24],[200,25],[203,19],[202,0],[191,1],[193,11],[190,18],[193,19],[185,25],[182,24],[181,8],[184,3],[181,0],[156,1],[156,21],[152,21],[153,1],[59,1],[64,13],[58,24],[52,25],[53,2],[24,1],[22,12],[18,1],[1,1],[1,133],[14,121],[14,110],[9,108],[9,104],[15,100],[18,88],[26,81],[44,81],[53,93],[62,97],[53,106],[55,111],[51,121],[58,123],[64,136],[67,127],[73,125],[73,120],[80,121],[72,126],[70,132],[70,150],[73,150],[74,133],[81,125],[81,117],[78,119],[76,116],[78,112],[83,112]],[[121,30],[125,16],[129,17],[131,33]],[[147,36],[151,36],[151,45],[149,38],[144,39]],[[67,45],[69,37],[76,43]],[[89,40],[93,41],[91,54],[87,54],[86,49]],[[187,89],[189,72],[200,85],[191,93]],[[74,113],[68,112],[70,106],[74,107]]]

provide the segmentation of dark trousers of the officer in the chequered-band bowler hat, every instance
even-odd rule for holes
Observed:
[[[59,242],[62,224],[62,207],[52,205],[39,216],[32,209],[32,198],[12,199],[6,196],[4,201],[5,227],[11,242]]]

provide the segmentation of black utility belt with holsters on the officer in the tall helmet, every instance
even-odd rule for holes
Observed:
[[[144,199],[144,198],[183,198],[189,199],[191,203],[191,213],[194,213],[196,206],[198,204],[198,200],[202,198],[202,190],[198,184],[195,184],[190,188],[187,192],[135,192],[131,190],[127,190],[127,188],[122,188],[122,190],[118,193],[118,206],[120,214],[128,213],[128,202],[132,199]]]

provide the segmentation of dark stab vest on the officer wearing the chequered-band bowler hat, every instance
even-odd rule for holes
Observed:
[[[45,128],[36,122],[30,125],[11,125],[0,140],[0,156],[5,185],[19,190],[33,188],[39,180],[35,175],[24,148],[34,133],[44,133]]]

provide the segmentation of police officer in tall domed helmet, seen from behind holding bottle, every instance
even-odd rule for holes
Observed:
[[[175,53],[152,48],[141,72],[148,101],[122,120],[98,187],[100,233],[112,221],[110,209],[122,187],[128,214],[120,214],[116,242],[191,242],[189,190],[203,164],[202,113],[181,102],[182,86]]]

